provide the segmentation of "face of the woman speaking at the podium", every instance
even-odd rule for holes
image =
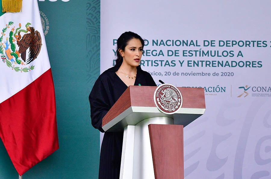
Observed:
[[[123,57],[123,65],[137,67],[140,64],[142,50],[142,44],[139,39],[129,40],[124,51],[122,49],[119,50],[120,55]]]

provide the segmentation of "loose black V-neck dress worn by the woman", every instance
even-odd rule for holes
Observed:
[[[115,73],[121,65],[119,62],[104,71],[96,80],[89,95],[92,126],[104,132],[102,118],[119,99],[127,86]],[[151,75],[137,67],[136,86],[156,86]],[[105,132],[101,145],[99,179],[119,179],[123,132]]]

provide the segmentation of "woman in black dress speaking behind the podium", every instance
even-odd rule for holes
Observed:
[[[144,40],[125,32],[117,39],[116,65],[104,71],[89,95],[92,126],[104,132],[99,179],[119,179],[123,132],[105,132],[102,118],[130,85],[156,86],[151,75],[140,67]],[[139,96],[140,98],[140,96]]]

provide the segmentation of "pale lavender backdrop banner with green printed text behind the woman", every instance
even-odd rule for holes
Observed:
[[[204,88],[206,111],[184,128],[186,179],[270,178],[269,7],[267,0],[101,2],[101,73],[115,62],[117,38],[133,31],[145,39],[141,67],[157,85]]]

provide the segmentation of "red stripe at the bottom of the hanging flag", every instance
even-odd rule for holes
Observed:
[[[59,148],[51,69],[0,104],[0,137],[20,175]]]

